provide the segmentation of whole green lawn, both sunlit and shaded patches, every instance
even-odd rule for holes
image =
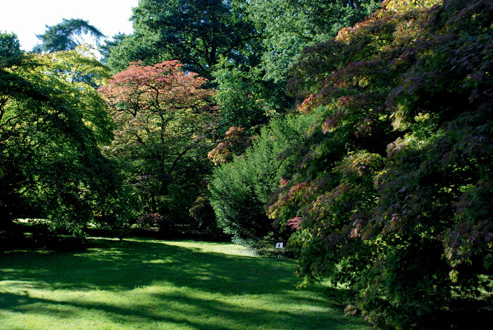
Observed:
[[[294,261],[229,243],[93,239],[0,255],[0,329],[367,329]]]

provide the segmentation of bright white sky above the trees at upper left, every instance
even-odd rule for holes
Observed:
[[[81,18],[100,29],[107,37],[133,31],[132,8],[139,0],[0,0],[0,31],[14,32],[21,48],[31,50],[40,41],[45,25],[62,18]],[[91,43],[90,39],[85,40]]]

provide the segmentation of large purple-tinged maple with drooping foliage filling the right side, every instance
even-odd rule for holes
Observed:
[[[348,283],[347,312],[377,327],[433,328],[490,279],[491,17],[389,0],[293,67],[298,110],[319,114],[269,215],[300,217],[298,275]]]

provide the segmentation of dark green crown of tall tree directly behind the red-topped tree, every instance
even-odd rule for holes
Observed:
[[[255,60],[257,32],[245,0],[143,0],[134,8],[134,34],[111,50],[114,69],[142,60],[154,64],[179,59],[185,70],[209,77],[219,57]]]

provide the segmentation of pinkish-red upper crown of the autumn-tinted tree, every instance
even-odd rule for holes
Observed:
[[[109,100],[113,118],[122,129],[120,142],[144,141],[154,131],[164,133],[173,112],[201,106],[211,91],[201,88],[207,79],[185,73],[177,60],[155,65],[130,63],[127,70],[114,75],[107,86],[98,89]],[[202,104],[203,106],[203,104]]]

